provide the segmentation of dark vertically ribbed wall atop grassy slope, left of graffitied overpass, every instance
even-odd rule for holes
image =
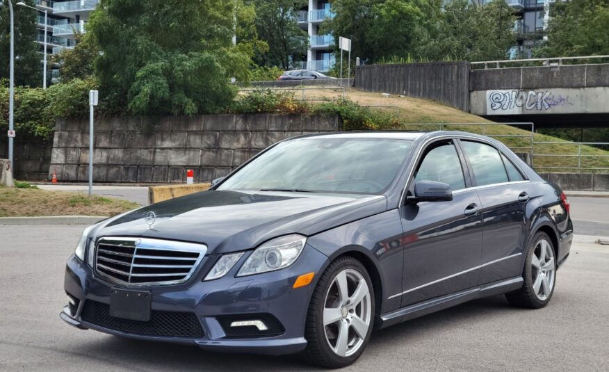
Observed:
[[[469,111],[469,63],[433,62],[355,67],[355,87],[433,99]]]

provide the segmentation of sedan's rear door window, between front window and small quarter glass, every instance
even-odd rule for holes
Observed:
[[[477,186],[507,182],[507,172],[501,155],[492,146],[484,143],[462,141],[464,152],[469,159]]]

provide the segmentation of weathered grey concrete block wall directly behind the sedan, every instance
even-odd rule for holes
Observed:
[[[181,183],[223,177],[261,149],[300,134],[339,130],[338,117],[197,115],[99,118],[93,180]],[[88,181],[88,118],[58,120],[48,168],[60,181]]]

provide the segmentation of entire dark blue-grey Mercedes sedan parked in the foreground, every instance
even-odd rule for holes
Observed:
[[[491,138],[299,136],[209,191],[88,227],[60,317],[339,368],[373,330],[468,300],[545,307],[572,239],[565,194]]]

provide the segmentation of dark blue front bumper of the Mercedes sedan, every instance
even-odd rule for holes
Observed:
[[[246,259],[247,254],[242,257]],[[71,297],[72,305],[66,306],[60,318],[81,329],[92,329],[116,334],[132,339],[165,341],[196,345],[200,348],[218,351],[262,353],[282,355],[298,353],[307,346],[304,339],[304,323],[307,317],[309,299],[313,293],[320,270],[327,264],[327,257],[311,246],[289,268],[275,272],[234,277],[241,266],[236,264],[225,277],[202,282],[206,273],[205,262],[199,272],[188,282],[171,286],[151,286],[145,290],[152,293],[152,312],[190,313],[196,316],[203,330],[202,337],[174,337],[124,332],[124,330],[104,327],[83,318],[87,301],[108,305],[113,288],[120,286],[97,277],[87,264],[72,256],[67,261],[64,287]],[[314,282],[308,286],[293,289],[299,275],[316,273]],[[143,288],[138,288],[138,290]],[[227,336],[224,316],[244,316],[270,314],[279,321],[283,333],[275,336],[237,338]],[[224,325],[223,325],[224,324]]]

